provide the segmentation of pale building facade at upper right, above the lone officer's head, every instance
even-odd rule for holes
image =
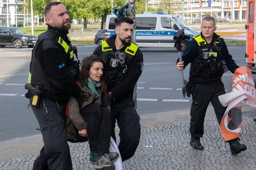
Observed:
[[[183,13],[185,22],[200,22],[205,15],[215,17],[217,22],[246,21],[247,0],[180,0],[182,3],[182,10],[173,11],[172,14],[182,16]],[[159,8],[161,0],[149,0],[148,6]]]

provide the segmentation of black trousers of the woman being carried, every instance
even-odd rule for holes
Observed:
[[[108,108],[90,104],[81,109],[81,115],[86,121],[86,131],[92,153],[109,153],[111,136],[111,113]]]

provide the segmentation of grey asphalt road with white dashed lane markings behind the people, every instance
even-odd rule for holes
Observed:
[[[77,47],[79,58],[92,54],[95,47]],[[245,65],[245,46],[228,47],[237,65]],[[137,84],[139,114],[189,109],[191,98],[183,98],[180,72],[175,68],[175,49],[143,48],[143,73]],[[28,79],[31,49],[0,49],[0,141],[38,134],[38,123],[28,107],[24,84]],[[189,68],[184,70],[188,79]],[[231,89],[232,73],[223,75],[227,91]],[[188,113],[189,114],[189,113]]]

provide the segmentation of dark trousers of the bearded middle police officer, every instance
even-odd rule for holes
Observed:
[[[131,158],[140,142],[140,120],[134,108],[132,97],[121,98],[111,104],[112,137],[115,137],[115,123],[120,128],[118,146],[122,160]]]

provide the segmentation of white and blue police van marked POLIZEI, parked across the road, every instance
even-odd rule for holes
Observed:
[[[116,15],[107,15],[105,38],[115,34]],[[140,47],[174,47],[173,36],[180,29],[184,29],[189,39],[199,33],[179,20],[178,17],[168,14],[136,14],[136,43]],[[181,49],[186,48],[187,41],[181,41]]]

